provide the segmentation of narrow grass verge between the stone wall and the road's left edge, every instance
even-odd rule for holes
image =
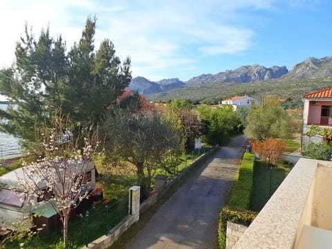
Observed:
[[[111,246],[110,249],[127,248],[127,244],[131,241],[131,239],[133,239],[133,237],[136,236],[136,234],[138,234],[138,232],[140,232],[145,227],[145,225],[147,225],[147,223],[149,223],[150,219],[159,210],[159,208],[180,187],[182,187],[182,185],[185,184],[190,179],[190,177],[193,174],[195,174],[216,153],[216,151],[218,151],[218,149],[213,151],[211,154],[206,156],[206,158],[201,160],[201,162],[197,163],[194,167],[192,167],[192,169],[190,171],[188,171],[187,174],[185,174],[185,176],[183,176],[179,181],[177,181],[176,183],[174,183],[174,185],[172,185],[172,187],[169,189],[169,192],[167,192],[167,194],[165,194],[165,196],[163,196],[163,198],[160,199],[160,201],[158,201],[153,207],[151,207],[149,210],[147,210],[147,212],[140,214],[140,220],[138,222],[134,223],[133,225],[131,225],[131,227],[122,234],[122,236],[116,241],[116,243],[113,243],[113,246]]]

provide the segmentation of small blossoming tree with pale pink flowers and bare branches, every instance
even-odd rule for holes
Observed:
[[[78,129],[82,133],[74,137],[68,116],[65,118],[61,113],[56,113],[51,124],[51,127],[47,124],[40,128],[35,126],[36,144],[39,145],[35,153],[43,153],[36,162],[24,165],[24,178],[20,180],[30,196],[39,196],[59,214],[66,248],[71,210],[89,197],[86,185],[93,176],[87,169],[91,167],[92,156],[100,142],[98,134],[90,132],[89,127]],[[84,140],[83,147],[79,146],[80,138]]]

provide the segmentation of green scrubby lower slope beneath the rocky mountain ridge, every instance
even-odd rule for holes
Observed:
[[[188,86],[182,89],[173,89],[162,93],[148,95],[150,101],[167,102],[175,98],[190,100],[194,103],[205,102],[218,104],[221,100],[231,98],[235,95],[248,94],[250,97],[261,99],[266,95],[277,95],[280,99],[291,99],[301,104],[302,95],[332,87],[332,77],[311,79],[284,79],[264,80],[250,83],[212,83],[203,86]]]

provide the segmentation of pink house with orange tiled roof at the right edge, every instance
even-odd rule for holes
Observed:
[[[308,136],[307,132],[311,125],[317,125],[322,129],[332,128],[332,87],[322,89],[302,96],[303,129],[302,145],[308,142],[322,142],[322,136]]]

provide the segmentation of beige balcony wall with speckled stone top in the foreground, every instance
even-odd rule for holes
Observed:
[[[298,249],[304,228],[332,230],[331,179],[332,162],[301,158],[233,248]]]

